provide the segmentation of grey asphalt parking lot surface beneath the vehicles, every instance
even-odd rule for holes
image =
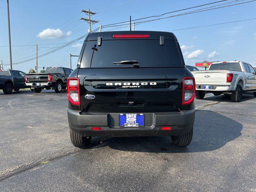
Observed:
[[[69,137],[66,92],[0,91],[0,191],[256,192],[256,98],[196,100],[186,148],[168,137]]]

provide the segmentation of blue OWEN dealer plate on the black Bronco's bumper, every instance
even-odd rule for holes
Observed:
[[[143,127],[144,114],[119,114],[120,127]]]

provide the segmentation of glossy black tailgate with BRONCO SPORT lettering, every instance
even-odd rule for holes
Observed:
[[[80,68],[82,112],[182,109],[183,68]],[[92,94],[95,99],[86,99]]]

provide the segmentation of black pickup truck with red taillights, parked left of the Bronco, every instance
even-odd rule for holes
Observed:
[[[56,93],[60,93],[66,89],[68,76],[73,70],[65,67],[48,67],[45,73],[30,73],[26,74],[26,85],[40,93],[44,88],[54,89]]]

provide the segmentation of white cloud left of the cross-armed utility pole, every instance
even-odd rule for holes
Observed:
[[[60,29],[44,29],[42,32],[38,33],[36,36],[42,39],[58,39],[70,36],[72,34],[71,31],[63,33]]]

